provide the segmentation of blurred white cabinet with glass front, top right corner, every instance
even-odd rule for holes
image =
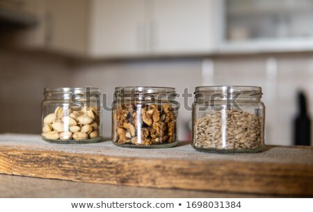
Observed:
[[[312,0],[223,0],[222,53],[312,51]]]

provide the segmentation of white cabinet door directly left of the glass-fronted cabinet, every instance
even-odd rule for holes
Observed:
[[[150,46],[158,54],[208,53],[216,47],[216,0],[154,0]]]

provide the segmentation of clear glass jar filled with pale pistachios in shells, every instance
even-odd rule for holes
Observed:
[[[45,88],[42,139],[51,143],[93,143],[102,139],[97,88]]]

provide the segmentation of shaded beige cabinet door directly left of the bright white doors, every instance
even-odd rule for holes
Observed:
[[[49,49],[86,54],[88,6],[88,0],[47,0],[45,42]]]

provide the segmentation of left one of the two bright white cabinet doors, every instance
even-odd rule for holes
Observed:
[[[90,49],[93,57],[140,55],[145,51],[144,0],[93,0]]]

